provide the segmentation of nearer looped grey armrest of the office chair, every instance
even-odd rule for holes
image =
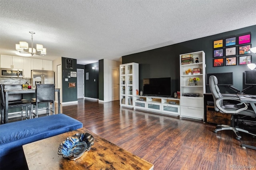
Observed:
[[[223,101],[223,100],[239,101],[240,103],[244,104],[244,107],[240,108],[240,109],[237,109],[237,110],[234,110],[234,111],[226,110],[226,109],[223,109],[220,105],[221,101]],[[246,103],[241,102],[240,99],[236,98],[236,97],[219,97],[219,98],[216,99],[216,106],[218,107],[218,109],[220,109],[221,112],[231,113],[231,114],[238,114],[240,111],[248,109],[248,106],[246,105]]]

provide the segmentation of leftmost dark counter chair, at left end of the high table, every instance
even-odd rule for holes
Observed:
[[[4,84],[0,84],[0,88],[1,88],[1,95],[0,95],[0,97],[1,97],[1,123],[5,119],[4,114],[5,114],[6,101],[5,101],[4,89],[5,89],[5,87],[7,89],[12,89],[12,86],[14,87],[14,89],[17,89],[17,88],[19,89],[21,85],[4,85]],[[21,88],[22,88],[22,86],[21,86]],[[21,107],[21,112],[18,113],[18,114],[21,115],[21,120],[23,120],[23,118],[24,118],[24,116],[23,116],[23,112],[24,111],[25,111],[25,118],[26,119],[29,118],[29,113],[28,112],[30,111],[31,103],[28,100],[26,100],[26,99],[22,99],[22,95],[21,94],[9,95],[8,107],[9,108]],[[23,107],[26,107],[26,109],[24,110]],[[13,117],[12,119],[16,119],[16,117]]]

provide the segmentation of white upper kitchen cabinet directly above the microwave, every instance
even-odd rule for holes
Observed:
[[[23,57],[2,54],[0,57],[1,68],[23,69]]]

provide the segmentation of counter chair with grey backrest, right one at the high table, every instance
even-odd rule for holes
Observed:
[[[38,104],[46,103],[46,107],[43,108],[46,110],[46,115],[54,115],[54,102],[55,102],[55,84],[36,84],[36,99],[32,100],[32,107],[31,107],[31,116],[33,115],[38,117]],[[50,108],[50,104],[52,104],[52,109]],[[33,112],[33,105],[36,106],[35,112]]]

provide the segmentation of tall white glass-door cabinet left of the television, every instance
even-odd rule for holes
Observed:
[[[120,106],[133,107],[133,97],[139,90],[139,64],[120,65]]]

